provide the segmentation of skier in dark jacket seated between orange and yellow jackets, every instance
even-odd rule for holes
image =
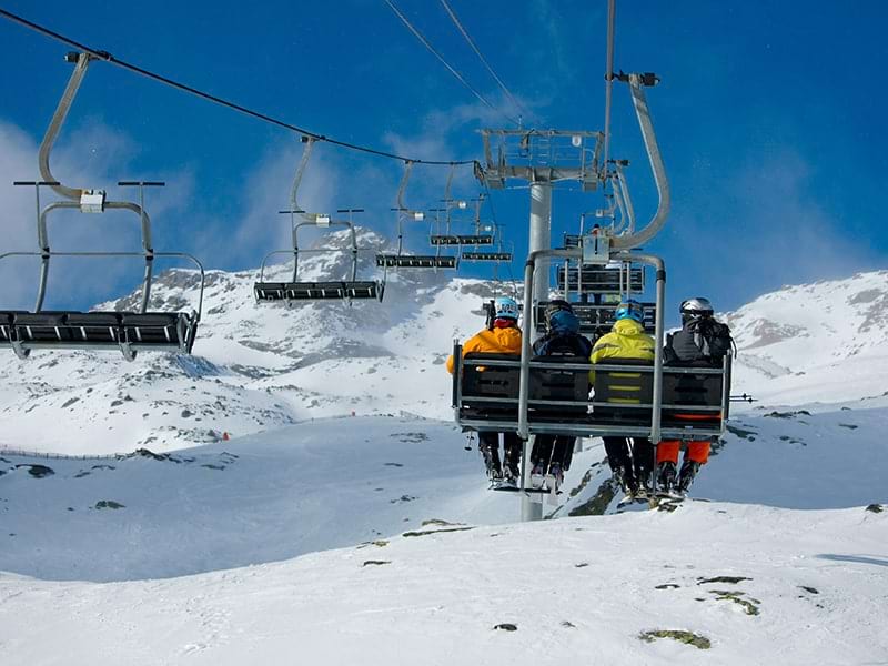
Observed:
[[[579,334],[579,320],[567,301],[551,301],[546,306],[546,334],[534,343],[535,356],[581,356],[588,359],[592,343]],[[554,477],[556,488],[571,467],[576,437],[571,435],[537,435],[531,453],[532,483],[539,487],[548,474]]]

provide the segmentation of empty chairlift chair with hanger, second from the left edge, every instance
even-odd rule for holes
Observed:
[[[260,269],[259,282],[253,285],[253,293],[258,303],[284,303],[291,307],[295,302],[304,301],[330,301],[330,300],[346,300],[354,299],[382,301],[385,291],[384,283],[373,280],[357,280],[357,235],[354,231],[352,223],[352,214],[363,212],[363,209],[340,209],[337,213],[347,213],[349,220],[332,220],[330,215],[323,213],[306,213],[299,208],[296,194],[302,176],[305,173],[305,168],[311,157],[312,148],[314,147],[315,139],[312,137],[303,137],[305,148],[302,151],[302,160],[296,170],[293,179],[293,186],[290,192],[290,210],[280,211],[282,214],[290,215],[290,228],[293,238],[293,248],[290,250],[273,250],[269,252],[262,260]],[[303,221],[296,222],[295,215],[300,215]],[[349,229],[351,248],[343,250],[340,248],[313,248],[300,249],[299,246],[299,230],[303,226],[314,226],[316,229],[330,229],[331,226],[345,226]],[[299,280],[299,255],[300,254],[316,254],[316,253],[331,253],[331,252],[351,252],[352,268],[349,280],[327,281],[327,282],[300,282]],[[265,266],[270,258],[279,254],[293,255],[293,279],[290,282],[265,282]]]

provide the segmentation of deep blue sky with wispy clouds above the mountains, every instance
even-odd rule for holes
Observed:
[[[495,82],[433,0],[402,10],[480,90],[512,112]],[[606,1],[451,0],[464,24],[538,128],[601,129]],[[344,141],[416,158],[481,157],[476,130],[506,121],[481,105],[401,24],[383,0],[167,2],[150,8],[83,0],[3,7],[95,48]],[[881,85],[888,47],[882,2],[623,0],[615,64],[655,71],[648,91],[673,192],[664,232],[648,250],[669,270],[669,301],[709,295],[733,309],[783,284],[847,276],[888,263],[888,188]],[[62,44],[0,21],[0,203],[6,250],[32,249],[36,147],[70,74]],[[655,192],[628,91],[615,89],[614,157],[628,175],[639,222]],[[184,249],[208,266],[248,269],[285,239],[297,137],[105,63],[94,63],[54,158],[57,175],[109,186],[162,178],[153,194],[158,249]],[[363,206],[363,222],[392,234],[389,208],[401,164],[319,145],[305,203]],[[446,170],[416,168],[406,201],[435,205]],[[456,194],[478,185],[461,172]],[[494,192],[521,272],[526,190]],[[553,238],[602,205],[597,193],[556,191]],[[72,216],[57,243],[138,242],[131,224]],[[125,226],[125,233],[117,232]],[[408,244],[424,249],[425,230]],[[118,238],[120,236],[120,238]],[[58,246],[58,244],[57,244]],[[61,249],[61,248],[59,248]],[[30,294],[27,273],[4,278],[8,299]],[[71,264],[54,273],[61,301],[78,305],[133,284],[135,273]],[[134,269],[135,270],[135,269]],[[484,269],[467,274],[484,275]],[[6,299],[4,299],[6,302]]]

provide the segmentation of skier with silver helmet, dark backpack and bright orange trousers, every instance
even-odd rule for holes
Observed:
[[[730,330],[713,319],[713,305],[707,299],[684,301],[679,307],[682,330],[670,333],[664,347],[664,361],[669,365],[718,367],[730,351]],[[710,440],[687,442],[682,470],[678,471],[678,452],[682,442],[666,440],[657,445],[657,486],[664,493],[690,487],[700,465],[709,460]]]

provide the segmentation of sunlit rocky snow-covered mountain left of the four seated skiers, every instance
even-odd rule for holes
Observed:
[[[323,240],[345,250],[346,232]],[[361,231],[359,246],[383,248]],[[349,274],[347,252],[300,261],[300,280]],[[286,280],[292,265],[265,280]],[[359,279],[381,279],[362,253]],[[206,275],[193,356],[114,352],[34,352],[0,357],[0,445],[65,453],[170,451],[307,418],[402,411],[448,418],[453,339],[484,323],[481,304],[503,285],[452,273],[389,271],[385,299],[313,302],[293,309],[255,303],[258,271]],[[155,281],[151,309],[196,309],[200,280],[170,271]],[[132,310],[139,293],[100,309]]]

